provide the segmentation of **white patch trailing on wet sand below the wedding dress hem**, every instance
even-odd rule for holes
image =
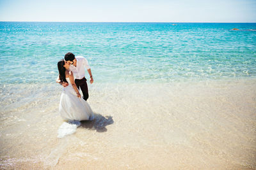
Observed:
[[[63,122],[63,124],[58,129],[57,138],[63,138],[69,134],[74,134],[76,132],[77,127],[81,125],[81,122],[73,120],[70,122]]]

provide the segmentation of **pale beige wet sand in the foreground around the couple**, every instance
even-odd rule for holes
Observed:
[[[61,87],[22,101],[31,94],[20,96],[21,106],[14,94],[4,99],[1,169],[256,168],[255,78],[95,83],[88,99],[95,120],[64,138],[57,138]]]

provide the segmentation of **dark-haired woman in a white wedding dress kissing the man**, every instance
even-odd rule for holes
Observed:
[[[69,122],[93,120],[94,115],[92,109],[84,99],[81,99],[81,95],[74,81],[74,75],[68,68],[69,64],[65,60],[58,62],[59,77],[56,81],[60,84],[68,83],[68,86],[63,87],[60,97],[60,115],[63,120]]]

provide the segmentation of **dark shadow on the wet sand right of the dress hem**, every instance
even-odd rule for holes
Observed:
[[[81,121],[81,127],[84,127],[86,129],[92,129],[97,132],[106,132],[108,131],[108,129],[106,129],[106,126],[114,123],[113,117],[103,117],[99,113],[94,113],[94,116],[95,118],[92,121]]]

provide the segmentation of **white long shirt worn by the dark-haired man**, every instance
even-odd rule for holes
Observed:
[[[76,67],[71,64],[69,69],[73,72],[75,79],[82,79],[85,76],[84,67],[86,67],[86,69],[90,69],[91,67],[88,64],[88,60],[83,56],[77,56],[76,60]]]

